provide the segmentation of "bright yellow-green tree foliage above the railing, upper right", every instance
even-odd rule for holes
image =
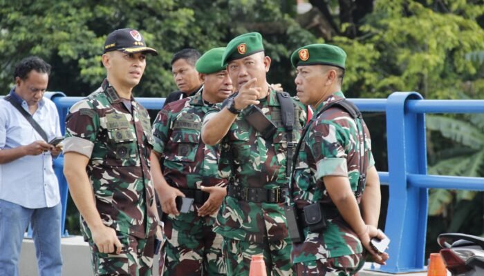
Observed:
[[[457,99],[465,81],[482,77],[466,55],[484,48],[476,21],[483,14],[477,1],[375,1],[360,37],[335,39],[353,54],[348,88],[364,97],[418,91],[426,99]]]

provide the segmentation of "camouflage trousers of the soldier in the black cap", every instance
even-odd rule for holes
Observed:
[[[155,236],[138,239],[125,233],[116,234],[122,244],[120,255],[100,253],[93,240],[88,238],[94,275],[151,276]]]

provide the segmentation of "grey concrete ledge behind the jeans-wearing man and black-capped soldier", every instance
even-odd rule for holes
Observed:
[[[84,242],[81,236],[63,237],[62,245],[62,275],[63,276],[92,276],[91,253],[89,245]],[[153,260],[153,275],[158,275],[158,259],[156,255]],[[39,275],[37,271],[37,257],[35,257],[35,246],[33,239],[24,239],[22,243],[20,264],[20,276]]]

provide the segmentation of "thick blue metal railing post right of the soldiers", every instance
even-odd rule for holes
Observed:
[[[423,270],[427,232],[428,189],[409,185],[407,175],[427,174],[425,115],[409,112],[417,92],[394,92],[387,101],[389,206],[385,233],[390,259],[380,270],[389,273]]]

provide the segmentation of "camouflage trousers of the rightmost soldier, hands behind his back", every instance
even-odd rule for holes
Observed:
[[[364,255],[353,254],[294,264],[298,276],[349,276],[363,267]]]

